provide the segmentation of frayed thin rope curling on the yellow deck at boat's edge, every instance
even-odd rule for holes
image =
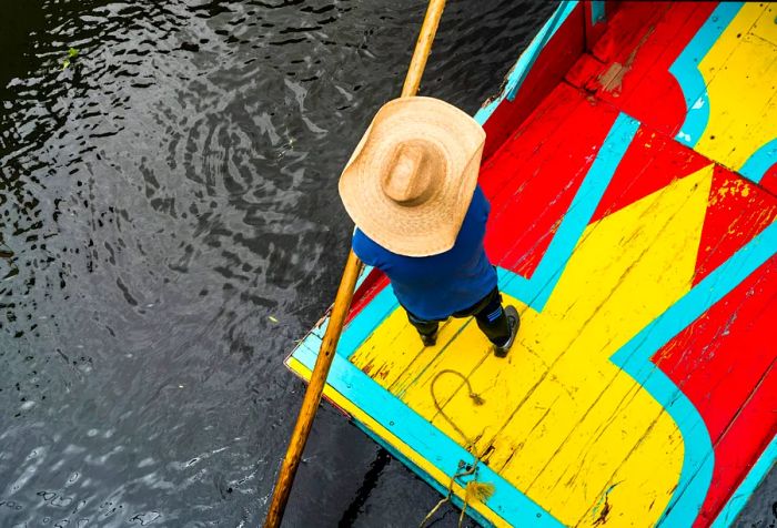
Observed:
[[[420,528],[424,528],[426,526],[426,522],[434,517],[434,514],[437,512],[437,510],[445,504],[450,502],[451,499],[453,498],[453,485],[455,484],[457,478],[463,478],[467,477],[470,475],[474,475],[477,471],[477,465],[481,463],[481,458],[483,455],[475,455],[474,449],[475,449],[475,443],[456,425],[456,423],[445,413],[443,407],[440,405],[440,400],[437,400],[437,395],[434,393],[434,385],[437,383],[437,380],[445,374],[453,374],[455,376],[461,377],[464,383],[467,386],[467,395],[472,399],[472,402],[475,405],[483,405],[485,403],[485,399],[483,399],[477,393],[475,393],[472,389],[472,384],[470,383],[470,379],[464,376],[462,373],[457,370],[452,370],[452,369],[444,369],[440,370],[434,378],[432,379],[432,383],[430,384],[430,393],[432,395],[432,402],[434,402],[434,407],[440,413],[440,416],[442,416],[445,422],[447,422],[451,427],[453,427],[453,430],[455,430],[464,440],[465,444],[465,449],[472,454],[473,457],[475,457],[475,461],[472,466],[467,467],[464,463],[460,463],[458,471],[456,471],[452,477],[451,481],[447,485],[447,494],[445,495],[444,498],[442,498],[435,506],[430,510],[428,514],[426,514],[426,517],[424,517],[424,520],[421,521]],[[484,501],[488,500],[488,498],[494,494],[494,485],[491,483],[481,483],[477,481],[476,479],[470,480],[465,488],[464,488],[464,505],[462,506],[462,512],[458,516],[458,528],[461,528],[464,525],[464,515],[466,512],[467,506],[473,502],[473,501]]]

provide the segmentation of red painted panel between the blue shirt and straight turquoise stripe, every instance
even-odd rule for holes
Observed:
[[[532,276],[616,116],[562,83],[484,164],[481,185],[492,202],[485,245],[493,263]]]

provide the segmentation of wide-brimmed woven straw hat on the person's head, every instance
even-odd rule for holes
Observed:
[[[340,197],[360,230],[394,253],[453,247],[472,202],[485,132],[433,98],[402,98],[377,111],[343,174]]]

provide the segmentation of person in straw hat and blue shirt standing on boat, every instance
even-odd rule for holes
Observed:
[[[402,98],[375,114],[340,177],[356,224],[353,251],[384,272],[424,346],[440,323],[474,316],[504,357],[521,318],[503,306],[483,238],[491,205],[477,184],[485,132],[433,98]]]

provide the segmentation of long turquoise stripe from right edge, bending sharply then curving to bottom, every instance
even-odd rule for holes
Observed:
[[[659,524],[690,526],[713,478],[715,455],[709,433],[690,400],[650,358],[674,336],[720,301],[777,252],[777,224],[769,225],[690,292],[622,347],[612,361],[664,406],[683,435],[683,470],[677,491]]]

